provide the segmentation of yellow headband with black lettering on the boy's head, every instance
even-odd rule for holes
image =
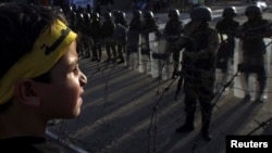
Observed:
[[[57,20],[51,28],[39,36],[32,52],[23,55],[0,78],[0,104],[12,98],[14,85],[21,78],[35,78],[50,71],[75,39],[76,34]]]

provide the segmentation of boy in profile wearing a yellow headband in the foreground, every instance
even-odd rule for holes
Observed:
[[[60,152],[47,144],[47,123],[79,115],[87,78],[66,24],[49,8],[0,4],[2,151]]]

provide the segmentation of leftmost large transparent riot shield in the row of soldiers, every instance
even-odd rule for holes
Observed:
[[[140,52],[139,31],[128,30],[127,31],[125,65],[129,69],[138,68],[138,66],[139,66],[139,52]]]

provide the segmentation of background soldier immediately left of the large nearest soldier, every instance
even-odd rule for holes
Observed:
[[[183,30],[183,23],[180,21],[180,11],[176,9],[169,11],[169,21],[163,29],[163,35],[166,38],[166,51],[168,54],[172,53],[174,60],[174,71],[172,78],[177,77],[178,64],[180,64],[180,51],[172,49],[175,41],[181,37]]]

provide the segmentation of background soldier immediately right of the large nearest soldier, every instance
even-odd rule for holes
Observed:
[[[217,67],[223,73],[222,82],[225,84],[233,63],[235,36],[239,27],[239,23],[234,21],[237,15],[235,7],[227,7],[223,10],[223,18],[215,25],[221,38],[221,44],[218,50]],[[226,39],[224,38],[226,37]]]

